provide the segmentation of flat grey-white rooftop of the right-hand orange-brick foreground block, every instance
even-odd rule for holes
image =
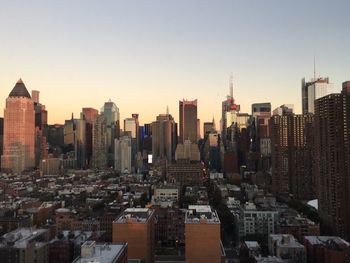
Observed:
[[[209,205],[190,205],[186,213],[185,223],[220,224],[220,219],[216,211]]]

